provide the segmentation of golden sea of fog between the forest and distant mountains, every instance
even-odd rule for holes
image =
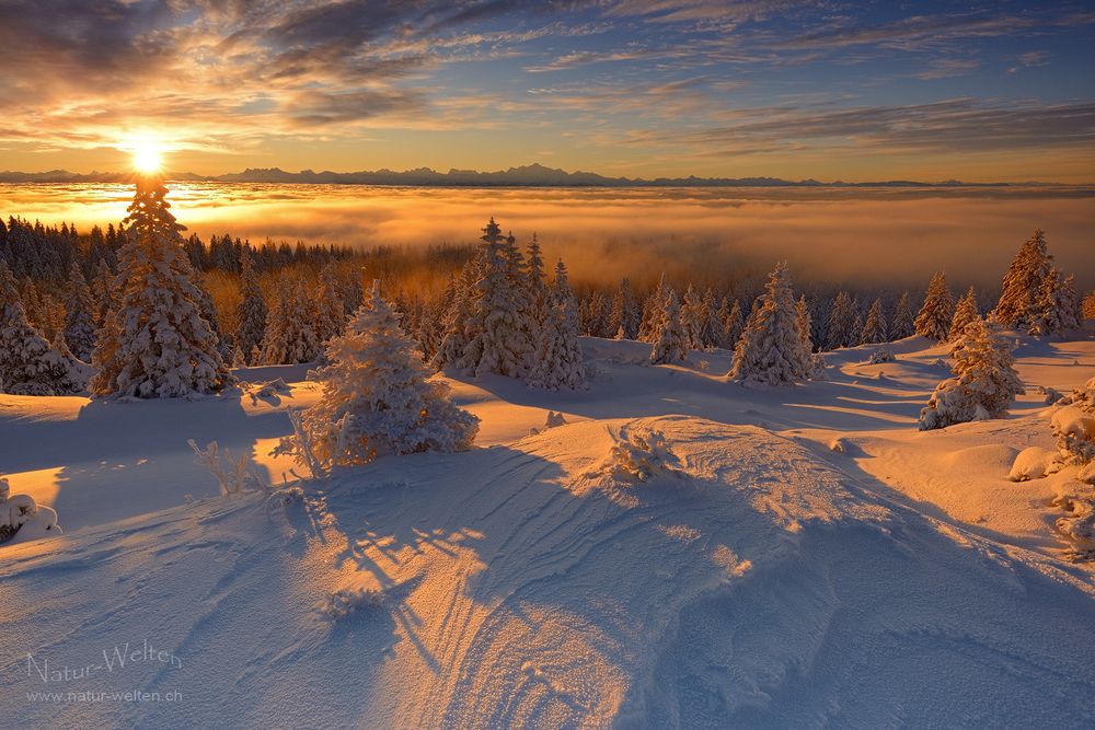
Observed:
[[[1050,251],[1095,287],[1095,188],[424,188],[173,183],[180,222],[262,242],[422,245],[474,241],[491,216],[578,279],[670,275],[721,279],[726,267],[786,258],[799,280],[922,287],[999,285],[1019,243],[1046,230]],[[105,227],[131,187],[0,185],[0,216]]]

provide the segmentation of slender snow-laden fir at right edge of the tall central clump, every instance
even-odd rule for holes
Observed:
[[[537,348],[527,383],[557,391],[586,386],[586,366],[578,345],[578,308],[563,262],[555,266],[555,281],[548,299],[548,315],[538,331]]]

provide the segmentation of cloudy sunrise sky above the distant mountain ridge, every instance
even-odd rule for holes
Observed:
[[[0,0],[0,170],[1095,181],[1088,2]]]

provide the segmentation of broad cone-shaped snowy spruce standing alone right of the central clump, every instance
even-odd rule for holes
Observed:
[[[781,385],[807,379],[812,370],[810,352],[799,331],[787,264],[780,262],[760,297],[757,315],[750,316],[738,340],[729,376]]]

